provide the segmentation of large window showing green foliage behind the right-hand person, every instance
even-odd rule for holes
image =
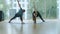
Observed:
[[[57,18],[56,0],[30,0],[29,4],[30,4],[31,12],[33,12],[32,9],[34,8],[34,4],[35,4],[35,8],[41,13],[42,17],[45,19],[56,19]],[[32,14],[30,12],[28,13]]]

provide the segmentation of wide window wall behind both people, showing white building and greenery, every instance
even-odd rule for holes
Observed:
[[[32,19],[34,4],[36,9],[40,12],[43,18],[56,19],[58,17],[56,0],[19,0],[19,1],[21,4],[21,7],[25,9],[25,14],[23,16],[24,19]],[[7,3],[6,3],[7,4],[6,7],[8,7],[7,11],[9,11],[9,14],[10,14],[9,16],[13,16],[19,10],[17,0],[9,0],[7,1]],[[8,18],[11,18],[11,17],[8,17]]]

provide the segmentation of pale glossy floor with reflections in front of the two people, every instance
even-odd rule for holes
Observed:
[[[33,23],[0,23],[0,34],[60,34],[57,21]]]

